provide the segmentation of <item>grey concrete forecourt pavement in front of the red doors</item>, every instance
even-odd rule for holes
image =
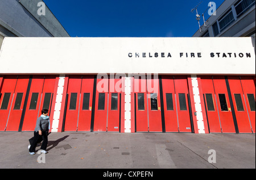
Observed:
[[[49,153],[30,155],[32,135],[0,132],[0,168],[255,169],[255,134],[50,133]]]

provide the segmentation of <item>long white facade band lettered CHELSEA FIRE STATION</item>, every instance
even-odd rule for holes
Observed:
[[[251,37],[6,37],[0,64],[1,74],[254,75],[255,51]]]

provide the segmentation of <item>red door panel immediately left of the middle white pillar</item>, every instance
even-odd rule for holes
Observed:
[[[118,88],[115,88],[117,85]],[[109,79],[108,131],[119,132],[120,88],[122,79]],[[112,94],[117,93],[117,110],[112,110]]]

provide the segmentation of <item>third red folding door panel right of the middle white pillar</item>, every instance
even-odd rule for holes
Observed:
[[[163,83],[163,103],[164,103],[164,119],[166,123],[166,132],[179,132],[177,125],[177,113],[175,102],[175,89],[174,89],[174,77],[162,76]],[[172,107],[173,110],[167,110],[166,94],[172,95]],[[169,102],[171,103],[171,102]]]

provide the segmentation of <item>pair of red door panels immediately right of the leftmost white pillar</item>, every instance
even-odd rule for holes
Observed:
[[[64,131],[90,131],[93,76],[70,76]]]

